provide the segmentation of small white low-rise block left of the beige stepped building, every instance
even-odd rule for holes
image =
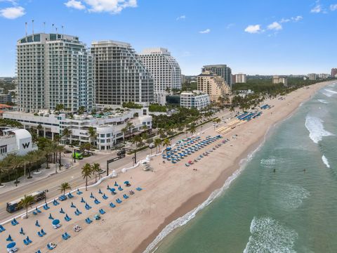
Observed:
[[[201,110],[211,103],[209,94],[202,91],[185,91],[180,94],[180,106]]]

